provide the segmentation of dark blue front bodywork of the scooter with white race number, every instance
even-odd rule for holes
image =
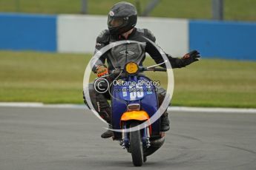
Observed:
[[[156,88],[154,86],[147,86],[145,84],[140,84],[141,81],[151,81],[145,76],[131,76],[128,78],[122,78],[124,82],[136,82],[134,86],[128,85],[115,85],[112,86],[112,124],[114,129],[120,129],[120,119],[124,112],[127,110],[127,105],[129,103],[140,103],[141,109],[145,110],[151,117],[157,112],[158,101]],[[136,87],[136,88],[135,88]],[[130,90],[129,90],[130,89]],[[134,90],[137,89],[137,90]],[[152,135],[159,134],[160,123],[157,121],[152,124]],[[118,133],[115,133],[115,136]],[[118,137],[117,137],[118,138]]]

